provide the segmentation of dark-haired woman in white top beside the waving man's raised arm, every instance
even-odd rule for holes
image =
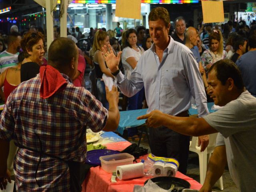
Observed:
[[[137,66],[137,62],[144,49],[137,44],[136,30],[128,29],[126,31],[126,40],[124,49],[122,50],[122,64],[126,78],[130,79],[131,73]],[[145,94],[144,88],[134,96],[128,98],[128,110],[136,110],[142,108],[143,97]],[[136,128],[128,129],[128,136],[133,140],[138,140],[138,130]]]

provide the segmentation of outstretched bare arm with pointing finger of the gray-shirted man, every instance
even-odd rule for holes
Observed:
[[[189,136],[202,136],[218,132],[204,118],[175,117],[158,110],[139,116],[137,119],[147,119],[146,124],[150,127],[166,126],[180,134]]]

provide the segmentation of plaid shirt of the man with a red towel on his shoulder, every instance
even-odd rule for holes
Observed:
[[[10,94],[2,112],[0,133],[20,146],[14,160],[18,191],[38,188],[34,178],[40,151],[38,183],[43,189],[69,191],[67,161],[85,161],[86,127],[102,130],[108,112],[90,92],[71,82],[47,99],[40,98],[40,85],[38,75]]]

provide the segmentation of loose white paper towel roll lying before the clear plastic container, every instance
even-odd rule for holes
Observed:
[[[120,180],[143,177],[144,165],[140,162],[136,164],[117,166],[116,175]]]

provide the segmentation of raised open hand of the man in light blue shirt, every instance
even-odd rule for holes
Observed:
[[[110,44],[108,44],[108,48],[105,45],[104,47],[102,47],[102,55],[106,61],[108,68],[112,73],[118,70],[118,64],[120,62],[121,54],[122,52],[120,51],[118,52],[117,56],[115,56]]]

